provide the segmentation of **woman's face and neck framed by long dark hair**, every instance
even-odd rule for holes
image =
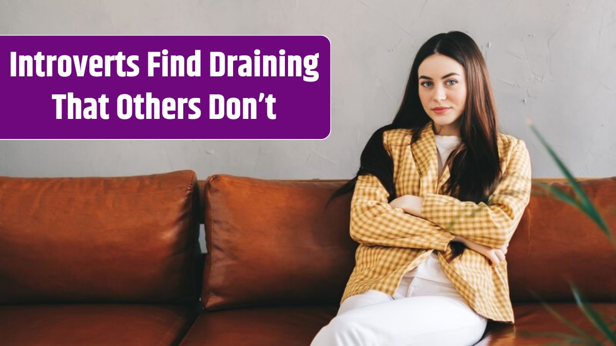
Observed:
[[[450,57],[433,54],[419,65],[419,99],[440,135],[460,135],[466,106],[464,66]],[[445,107],[439,111],[439,107]],[[437,109],[435,109],[437,108]]]

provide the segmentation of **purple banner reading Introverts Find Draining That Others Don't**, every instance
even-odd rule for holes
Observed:
[[[0,139],[325,139],[325,36],[0,36]]]

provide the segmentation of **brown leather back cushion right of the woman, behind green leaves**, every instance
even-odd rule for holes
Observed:
[[[580,182],[616,237],[616,177]],[[567,192],[568,183],[551,182]],[[594,301],[616,299],[616,249],[585,214],[548,196],[537,185],[509,243],[507,262],[513,302],[571,301],[567,280]]]

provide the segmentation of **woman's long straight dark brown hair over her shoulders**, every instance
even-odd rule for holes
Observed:
[[[402,105],[391,124],[380,127],[371,135],[360,157],[355,177],[334,191],[331,199],[355,189],[359,175],[373,174],[389,193],[388,202],[397,198],[394,185],[394,163],[383,147],[383,132],[390,129],[408,129],[413,134],[411,143],[419,139],[419,129],[432,121],[419,100],[419,65],[424,59],[442,54],[453,58],[464,67],[466,74],[466,107],[461,114],[461,143],[452,151],[447,162],[450,177],[444,195],[461,201],[487,203],[501,178],[498,156],[498,120],[495,100],[485,60],[473,39],[460,31],[441,33],[428,39],[418,50]],[[328,201],[329,203],[329,201]],[[464,249],[461,243],[452,243],[453,259]],[[449,260],[451,260],[449,259]]]

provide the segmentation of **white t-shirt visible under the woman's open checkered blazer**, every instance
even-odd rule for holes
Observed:
[[[458,136],[435,135],[434,141],[436,142],[436,148],[439,152],[438,162],[440,175],[440,172],[443,169],[443,164],[447,160],[450,153],[452,153],[453,149],[460,144],[461,138]],[[411,276],[438,281],[440,283],[452,284],[452,281],[450,281],[447,275],[445,275],[445,272],[443,272],[443,268],[440,267],[439,257],[436,254],[436,251],[432,251],[432,254],[430,254],[426,262],[423,262],[418,265],[418,267],[408,271],[404,275],[405,278]]]

